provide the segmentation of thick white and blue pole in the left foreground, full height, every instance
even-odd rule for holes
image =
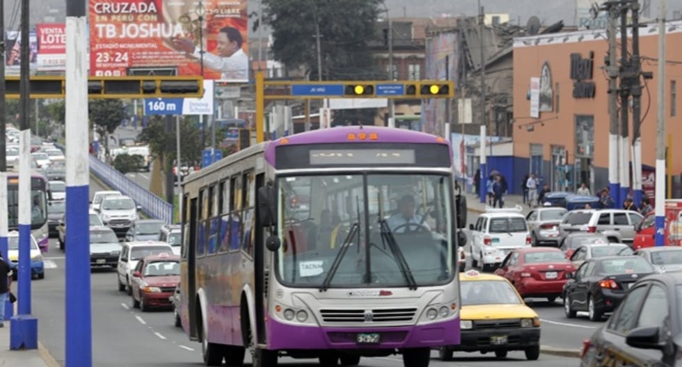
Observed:
[[[66,3],[66,367],[93,366],[88,231],[88,26],[86,2]],[[106,139],[106,136],[104,136]]]

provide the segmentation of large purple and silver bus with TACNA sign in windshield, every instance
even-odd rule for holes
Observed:
[[[182,184],[180,318],[207,366],[323,366],[459,344],[452,149],[336,127],[248,147]]]

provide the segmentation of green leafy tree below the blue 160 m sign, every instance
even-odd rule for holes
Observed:
[[[191,123],[191,120],[189,116],[180,117],[180,158],[183,162],[197,161],[201,156],[199,129]],[[169,133],[166,131],[165,116],[150,117],[147,127],[140,133],[138,140],[149,143],[152,158],[161,162],[164,172],[170,172],[173,169],[173,159],[177,152],[175,119],[173,130]]]

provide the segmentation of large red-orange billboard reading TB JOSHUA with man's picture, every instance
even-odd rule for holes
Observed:
[[[246,1],[89,0],[90,75],[248,81]]]

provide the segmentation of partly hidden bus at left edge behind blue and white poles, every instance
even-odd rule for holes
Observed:
[[[47,178],[31,174],[31,234],[42,252],[47,252]],[[19,172],[7,172],[8,229],[19,230]]]

